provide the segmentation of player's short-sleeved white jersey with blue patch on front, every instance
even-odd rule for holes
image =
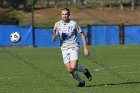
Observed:
[[[59,34],[62,40],[61,49],[68,49],[78,46],[77,32],[81,33],[80,26],[73,20],[64,23],[62,20],[55,23],[56,36]]]

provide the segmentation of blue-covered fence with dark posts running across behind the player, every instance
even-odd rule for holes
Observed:
[[[140,26],[91,25],[82,27],[82,30],[87,38],[87,44],[92,46],[140,44]],[[35,32],[33,33],[33,31]],[[11,42],[10,35],[12,32],[20,33],[21,40],[18,43]],[[52,28],[36,28],[32,30],[32,26],[0,26],[0,46],[60,46],[60,40],[57,39],[56,42],[52,42],[51,36]],[[78,42],[80,46],[83,45],[80,35],[78,35]]]

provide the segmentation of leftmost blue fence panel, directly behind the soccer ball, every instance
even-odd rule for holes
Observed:
[[[18,43],[13,43],[10,40],[11,33],[19,32],[21,40]],[[32,41],[32,26],[0,26],[0,46],[19,46],[33,45]]]

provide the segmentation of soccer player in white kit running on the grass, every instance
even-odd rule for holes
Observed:
[[[85,56],[88,56],[89,52],[83,31],[75,21],[69,18],[69,16],[70,10],[68,8],[62,9],[61,11],[62,19],[56,22],[54,25],[52,40],[55,41],[57,35],[59,34],[60,40],[62,41],[61,51],[64,64],[70,75],[74,79],[79,81],[77,87],[84,87],[85,81],[82,78],[80,78],[77,71],[83,72],[89,81],[92,80],[92,75],[90,74],[87,68],[82,67],[78,63],[79,45],[77,42],[77,33],[81,34]]]

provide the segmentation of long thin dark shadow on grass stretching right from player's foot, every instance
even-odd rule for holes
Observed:
[[[140,84],[140,81],[134,82],[123,82],[123,83],[109,83],[109,84],[97,84],[97,85],[88,85],[86,87],[98,87],[98,86],[118,86],[118,85],[130,85],[130,84]]]

